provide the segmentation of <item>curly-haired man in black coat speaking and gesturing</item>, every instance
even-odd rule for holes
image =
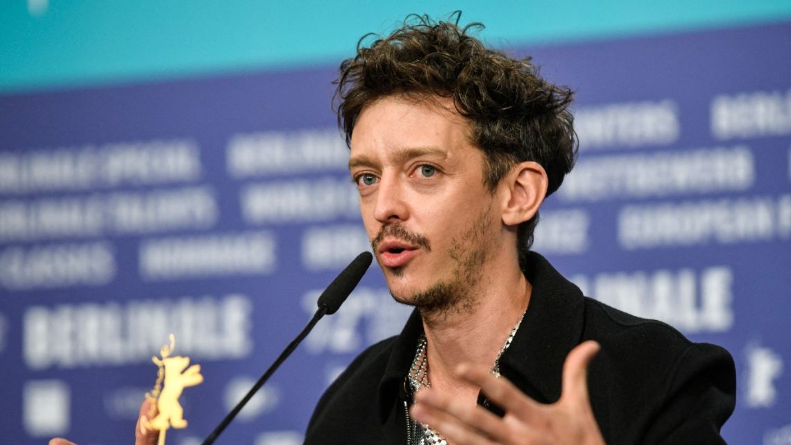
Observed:
[[[411,20],[358,48],[338,92],[365,229],[416,310],[331,385],[305,443],[724,443],[725,350],[584,298],[529,251],[576,155],[572,93],[473,25]]]

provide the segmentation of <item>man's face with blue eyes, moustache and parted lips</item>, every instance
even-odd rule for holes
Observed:
[[[422,310],[469,309],[502,242],[469,127],[452,101],[399,96],[354,126],[349,166],[374,255],[395,299]]]

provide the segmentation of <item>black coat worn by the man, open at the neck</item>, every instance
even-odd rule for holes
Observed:
[[[736,371],[725,349],[584,297],[536,253],[525,276],[532,295],[500,359],[501,375],[536,401],[557,401],[566,355],[596,340],[601,350],[589,367],[589,393],[608,445],[725,443],[719,430],[736,402]],[[421,333],[413,313],[398,337],[354,359],[316,405],[305,443],[407,443],[403,388]]]

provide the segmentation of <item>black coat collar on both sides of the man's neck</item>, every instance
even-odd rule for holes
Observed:
[[[585,302],[580,289],[538,253],[528,253],[525,265],[524,276],[532,284],[530,303],[513,342],[500,358],[500,371],[536,401],[549,403],[560,397],[563,362],[581,340]],[[383,423],[399,394],[403,395],[404,378],[422,332],[422,320],[414,310],[395,340],[379,384]]]

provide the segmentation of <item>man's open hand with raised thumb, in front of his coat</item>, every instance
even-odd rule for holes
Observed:
[[[562,394],[554,404],[532,400],[506,378],[497,378],[483,367],[460,365],[460,377],[479,386],[490,401],[505,409],[505,416],[430,388],[415,394],[411,416],[455,445],[604,445],[593,418],[587,380],[588,363],[599,348],[595,341],[573,348],[563,364]]]

